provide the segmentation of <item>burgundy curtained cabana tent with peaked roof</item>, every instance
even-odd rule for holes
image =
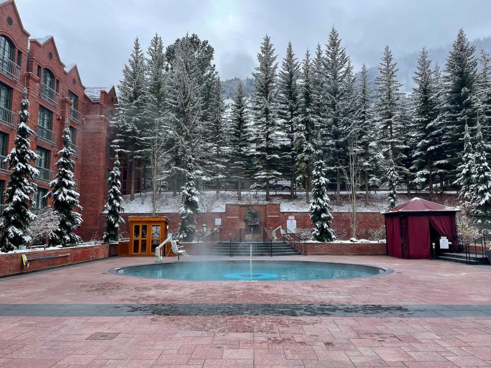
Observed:
[[[436,254],[432,255],[432,241],[446,236],[449,250],[459,252],[457,241],[456,208],[413,198],[386,212],[385,234],[387,254],[397,258],[425,259],[440,252],[435,243]]]

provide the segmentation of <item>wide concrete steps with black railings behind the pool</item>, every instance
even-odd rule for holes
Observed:
[[[270,250],[262,241],[244,240],[238,243],[234,249],[234,256],[270,256]],[[213,248],[206,250],[206,255],[209,256],[230,256],[230,242],[221,241],[215,243]],[[273,256],[298,256],[300,252],[282,241],[273,241]]]

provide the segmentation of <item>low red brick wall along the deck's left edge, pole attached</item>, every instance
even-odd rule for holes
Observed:
[[[37,250],[26,252],[28,259],[53,255],[69,254],[69,256],[48,258],[44,260],[33,260],[29,263],[29,268],[24,268],[22,263],[23,253],[9,253],[0,255],[0,277],[37,271],[48,268],[66,266],[75,263],[95,261],[108,257],[109,245],[98,244],[92,246],[81,246],[75,248],[61,248],[54,250]]]

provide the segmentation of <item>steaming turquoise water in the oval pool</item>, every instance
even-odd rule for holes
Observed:
[[[387,268],[309,261],[199,261],[128,266],[111,273],[147,279],[212,281],[297,281],[368,277]]]

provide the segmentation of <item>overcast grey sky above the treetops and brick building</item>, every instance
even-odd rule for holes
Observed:
[[[264,34],[279,57],[292,40],[300,58],[325,44],[334,25],[358,68],[375,65],[389,44],[395,57],[452,42],[463,27],[472,40],[491,35],[491,1],[477,0],[16,0],[31,37],[51,34],[63,62],[77,63],[82,83],[117,84],[140,38],[165,44],[186,32],[208,39],[222,79],[250,76]]]

